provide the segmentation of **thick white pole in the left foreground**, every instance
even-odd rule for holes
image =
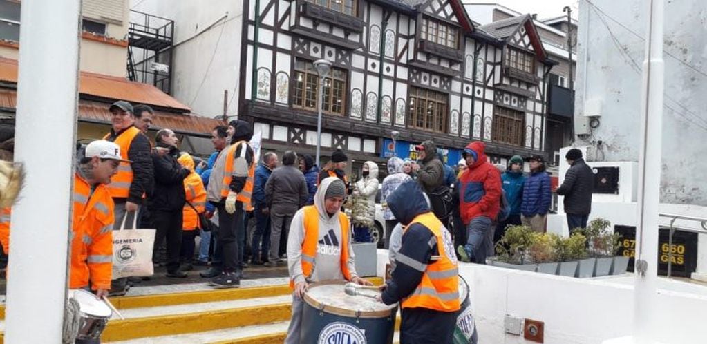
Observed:
[[[61,343],[76,142],[80,0],[22,1],[5,343]]]

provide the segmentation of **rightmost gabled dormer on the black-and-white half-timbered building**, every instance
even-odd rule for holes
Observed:
[[[530,15],[499,20],[480,29],[503,42],[504,79],[539,83],[538,67],[547,62],[547,54]]]

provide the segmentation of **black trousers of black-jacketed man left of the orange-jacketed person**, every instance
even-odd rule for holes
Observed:
[[[152,225],[155,233],[155,247],[152,251],[153,260],[157,254],[158,243],[167,239],[167,271],[179,269],[180,249],[182,249],[182,209],[151,210]]]

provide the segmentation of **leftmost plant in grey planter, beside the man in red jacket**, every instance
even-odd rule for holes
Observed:
[[[528,256],[533,233],[527,226],[508,226],[506,234],[496,244],[496,259],[489,259],[489,261],[492,262],[492,265],[503,268],[536,271],[537,264],[532,263]]]

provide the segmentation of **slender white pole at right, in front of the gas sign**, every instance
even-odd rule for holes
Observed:
[[[664,66],[663,0],[648,4],[648,40],[645,40],[641,92],[641,152],[638,156],[638,224],[636,225],[636,287],[633,293],[633,338],[653,343],[656,282],[658,280],[658,203]]]

